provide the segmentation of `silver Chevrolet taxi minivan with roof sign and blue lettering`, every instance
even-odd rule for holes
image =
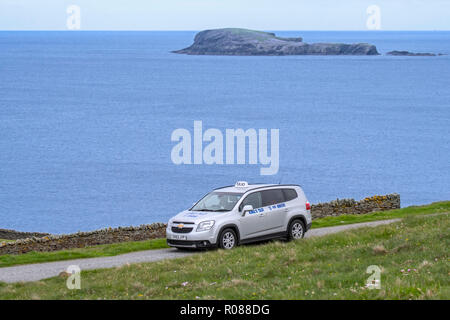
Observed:
[[[311,205],[300,186],[239,181],[171,218],[166,237],[171,247],[232,249],[274,238],[300,239],[310,228]]]

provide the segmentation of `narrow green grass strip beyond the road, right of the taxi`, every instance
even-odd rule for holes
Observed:
[[[367,213],[361,215],[341,215],[337,217],[325,217],[315,219],[312,224],[312,228],[323,228],[340,226],[344,224],[369,222],[376,220],[386,220],[395,218],[404,218],[414,215],[426,215],[434,213],[450,212],[450,201],[434,202],[424,206],[411,206],[402,209],[379,211],[374,213]]]

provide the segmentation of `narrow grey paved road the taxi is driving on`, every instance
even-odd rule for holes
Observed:
[[[400,221],[400,219],[381,220],[373,222],[355,223],[337,227],[327,227],[312,229],[308,231],[305,238],[320,237],[327,234],[337,233],[344,230],[360,227],[376,227],[383,224],[389,224]],[[46,262],[29,264],[16,267],[0,268],[0,281],[19,282],[19,281],[37,281],[59,275],[66,270],[68,266],[77,265],[81,270],[113,268],[128,263],[152,262],[163,259],[180,258],[195,252],[182,252],[177,249],[158,249],[126,253],[114,257],[101,257],[89,259],[66,260],[57,262]]]

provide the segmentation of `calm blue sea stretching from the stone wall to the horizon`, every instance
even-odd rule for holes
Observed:
[[[450,32],[277,32],[450,53]],[[170,53],[195,32],[0,32],[0,228],[165,222],[211,188],[299,183],[314,203],[450,199],[450,56]],[[176,166],[176,128],[280,129],[280,171]]]

